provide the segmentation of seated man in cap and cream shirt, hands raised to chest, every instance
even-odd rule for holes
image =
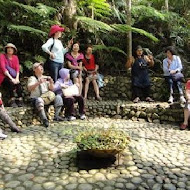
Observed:
[[[31,76],[28,79],[28,91],[30,92],[30,98],[31,101],[35,107],[35,109],[38,111],[39,116],[43,122],[43,125],[45,127],[49,126],[49,121],[47,119],[45,110],[44,110],[44,104],[50,104],[51,102],[54,102],[54,108],[55,108],[55,121],[63,121],[64,119],[59,116],[59,113],[61,111],[61,108],[63,106],[63,100],[60,95],[54,95],[52,92],[54,89],[54,82],[53,79],[49,76],[44,76],[43,72],[43,64],[42,63],[34,63],[33,64],[33,71],[34,76]],[[45,102],[44,97],[42,95],[50,92],[50,95],[47,95],[46,98],[49,99],[48,103]]]

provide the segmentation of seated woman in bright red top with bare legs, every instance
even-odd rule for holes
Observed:
[[[101,100],[99,87],[97,84],[97,71],[99,65],[96,63],[95,56],[92,54],[92,46],[88,45],[83,59],[84,68],[83,71],[86,73],[85,87],[84,87],[84,99],[87,99],[87,93],[90,82],[94,86],[94,91],[96,94],[96,100]]]

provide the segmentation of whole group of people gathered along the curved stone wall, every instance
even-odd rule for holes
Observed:
[[[84,100],[87,99],[89,84],[92,82],[96,99],[101,100],[99,87],[97,85],[97,75],[99,66],[96,58],[92,54],[92,46],[86,47],[85,53],[80,52],[79,42],[71,39],[67,47],[64,47],[59,39],[64,32],[64,28],[53,25],[50,28],[49,39],[42,45],[42,50],[49,55],[49,59],[45,63],[45,68],[50,76],[44,75],[43,63],[36,62],[33,64],[34,75],[28,79],[28,91],[30,92],[30,102],[39,114],[41,121],[45,127],[49,126],[49,121],[45,112],[45,106],[54,104],[55,121],[75,120],[76,110],[74,104],[78,103],[79,118],[84,120],[85,107]],[[8,43],[4,48],[5,53],[0,55],[0,85],[8,86],[11,107],[23,106],[22,86],[19,80],[19,59],[16,55],[17,48],[14,44]],[[143,48],[137,46],[135,54],[130,57],[126,64],[127,68],[131,68],[132,74],[132,92],[133,102],[138,103],[142,99],[153,102],[150,97],[150,79],[148,67],[154,66],[154,58],[152,55],[144,55]],[[176,55],[173,48],[166,49],[166,58],[163,60],[164,77],[169,85],[169,103],[174,101],[174,84],[177,85],[181,103],[186,103],[184,109],[184,123],[181,129],[188,126],[188,118],[190,113],[190,81],[186,85],[187,102],[184,98],[181,80],[182,64],[180,57]],[[83,76],[85,75],[84,96]],[[65,118],[60,116],[62,109],[65,109]],[[0,118],[8,123],[12,131],[21,132],[11,118],[6,113],[0,94]],[[0,130],[0,138],[6,135]]]

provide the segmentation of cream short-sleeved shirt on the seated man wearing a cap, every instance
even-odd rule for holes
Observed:
[[[46,76],[42,76],[42,77],[46,77]],[[41,77],[40,77],[41,78]],[[40,79],[39,78],[39,79]],[[28,84],[27,86],[32,86],[34,85],[35,83],[38,82],[38,80],[35,76],[31,76],[29,79],[28,79]],[[41,90],[40,90],[41,88]],[[40,85],[38,85],[34,90],[32,90],[30,92],[30,97],[31,98],[36,98],[36,97],[40,97],[43,93],[49,91],[49,81],[46,81],[46,82],[43,82],[41,83]]]

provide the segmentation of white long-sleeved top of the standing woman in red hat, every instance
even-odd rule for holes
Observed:
[[[53,45],[53,38],[50,38],[45,44],[42,45],[42,50],[46,53],[50,51],[50,47]],[[55,58],[51,59],[57,63],[64,63],[64,55],[68,52],[68,48],[64,48],[61,40],[54,39],[54,45],[51,52],[54,53]]]

